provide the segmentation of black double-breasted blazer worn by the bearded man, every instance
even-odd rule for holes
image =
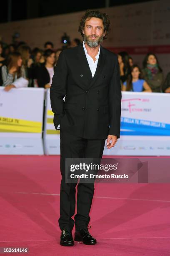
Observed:
[[[65,101],[63,98],[65,97]],[[121,85],[117,55],[100,46],[94,77],[83,44],[59,55],[50,87],[55,129],[88,139],[120,138]]]

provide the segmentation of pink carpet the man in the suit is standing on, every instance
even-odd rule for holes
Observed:
[[[0,247],[28,247],[29,256],[170,255],[170,184],[95,184],[89,231],[98,243],[60,246],[59,166],[60,156],[0,156]]]

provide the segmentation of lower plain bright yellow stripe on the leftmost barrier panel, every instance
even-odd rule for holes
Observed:
[[[0,130],[3,132],[20,132],[20,133],[41,133],[41,127],[29,127],[19,125],[0,125]]]

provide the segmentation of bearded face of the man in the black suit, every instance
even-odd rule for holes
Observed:
[[[84,34],[84,41],[89,47],[98,46],[102,42],[103,36],[105,36],[102,20],[95,17],[87,18],[82,33]]]

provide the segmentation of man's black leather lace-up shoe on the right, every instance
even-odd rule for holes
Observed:
[[[91,228],[91,226],[88,226]],[[81,228],[80,231],[75,231],[75,241],[82,241],[84,244],[93,245],[96,244],[97,241],[94,237],[92,237],[87,228]]]

